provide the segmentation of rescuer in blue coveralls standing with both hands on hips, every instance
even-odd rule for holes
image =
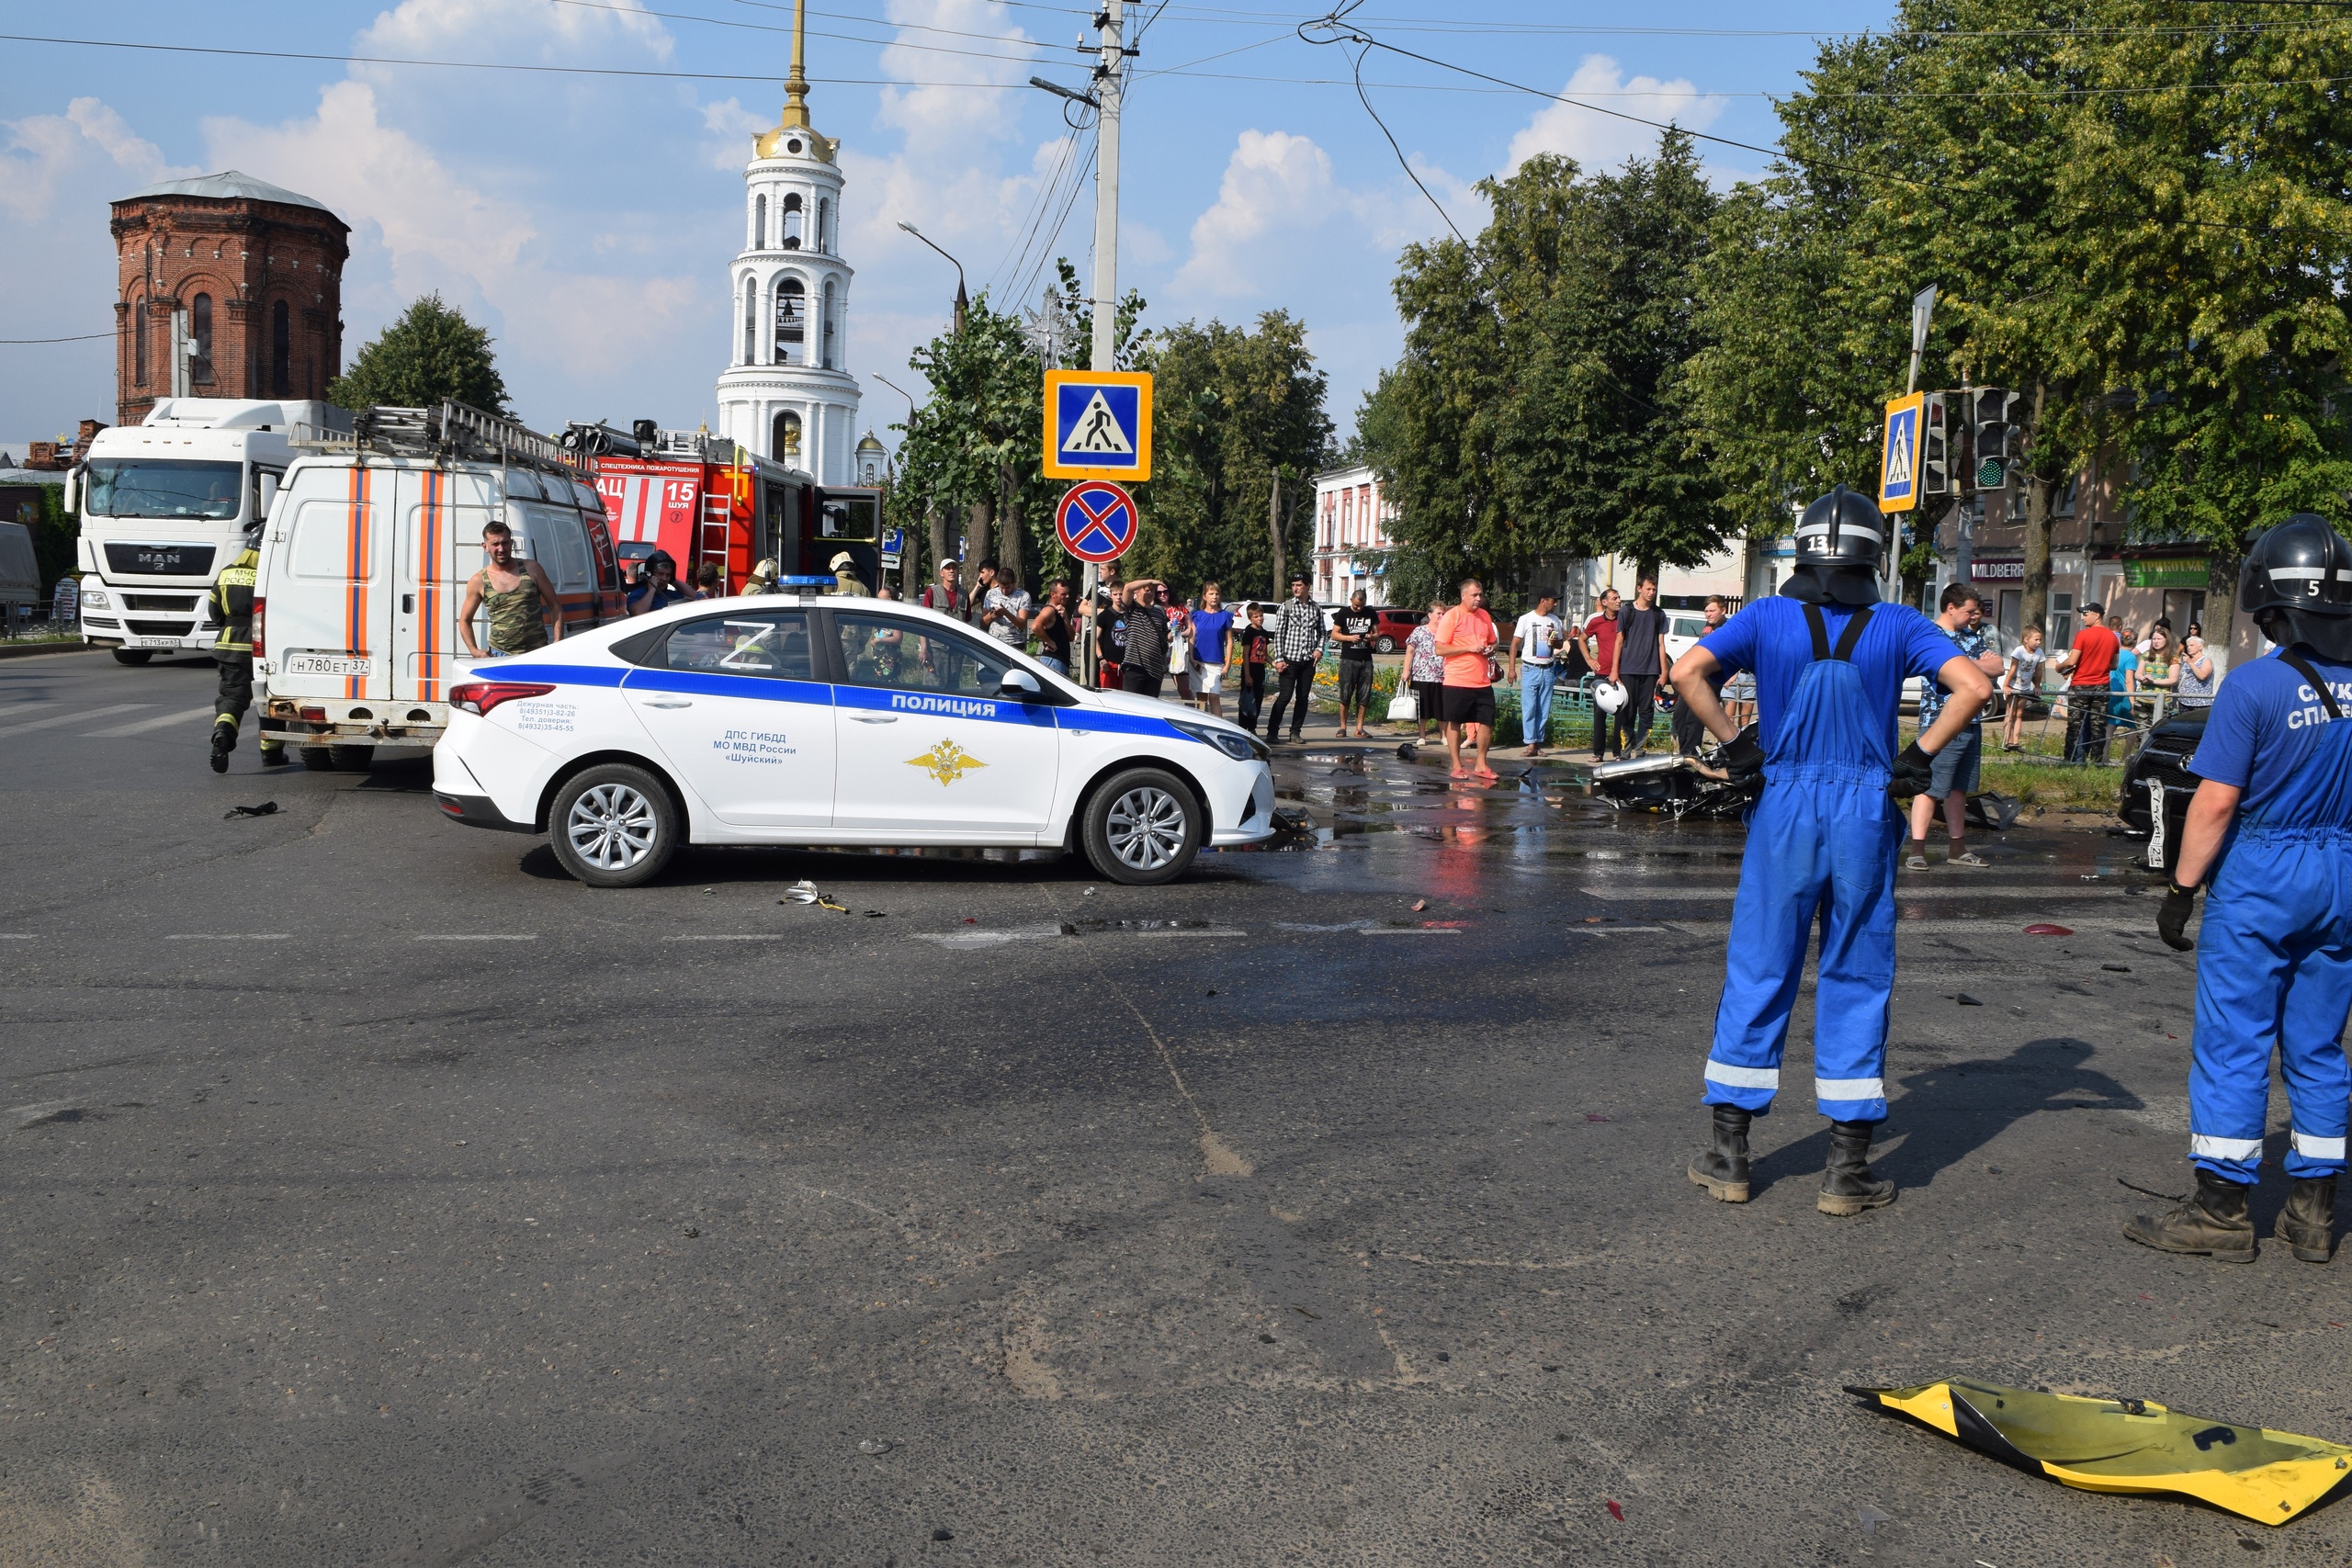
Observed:
[[[1870,1135],[1886,1119],[1886,1006],[1896,978],[1896,846],[1891,795],[1929,785],[1929,759],[1992,696],[1992,682],[1933,621],[1879,604],[1886,520],[1837,487],[1804,508],[1797,571],[1780,595],[1740,609],[1675,661],[1675,691],[1717,741],[1733,776],[1764,773],[1748,813],[1748,853],[1731,905],[1724,999],[1715,1009],[1708,1093],[1715,1143],[1691,1180],[1748,1201],[1748,1124],[1780,1088],[1788,1013],[1820,917],[1813,999],[1813,1103],[1830,1119],[1818,1208],[1853,1215],[1891,1204],[1870,1173]],[[1757,731],[1733,729],[1710,677],[1755,670]],[[1896,755],[1896,710],[1912,675],[1952,693]]]

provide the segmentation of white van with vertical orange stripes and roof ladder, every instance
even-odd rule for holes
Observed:
[[[360,769],[379,745],[440,738],[466,665],[456,611],[492,517],[555,583],[567,635],[626,614],[604,503],[562,447],[456,402],[362,409],[353,425],[296,433],[254,585],[261,729],[308,766]],[[489,646],[487,618],[475,639]]]

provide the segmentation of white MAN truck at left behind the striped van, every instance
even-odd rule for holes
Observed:
[[[294,425],[348,433],[350,414],[325,402],[162,397],[146,423],[99,430],[66,480],[66,510],[82,512],[82,642],[127,665],[212,649],[212,581],[268,517],[296,456]]]

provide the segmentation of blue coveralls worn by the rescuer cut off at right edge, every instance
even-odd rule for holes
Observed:
[[[2312,684],[2328,724],[2286,785],[2232,825],[2197,933],[2190,1161],[2234,1182],[2263,1164],[2272,1051],[2293,1110],[2286,1173],[2345,1168],[2352,719]]]

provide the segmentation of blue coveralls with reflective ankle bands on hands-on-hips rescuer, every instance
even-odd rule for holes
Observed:
[[[1818,912],[1813,1103],[1832,1121],[1884,1121],[1903,837],[1886,797],[1893,712],[1872,712],[1851,663],[1872,611],[1856,611],[1835,649],[1820,611],[1804,611],[1813,663],[1797,677],[1764,762],[1764,797],[1748,813],[1705,1103],[1771,1110]]]

